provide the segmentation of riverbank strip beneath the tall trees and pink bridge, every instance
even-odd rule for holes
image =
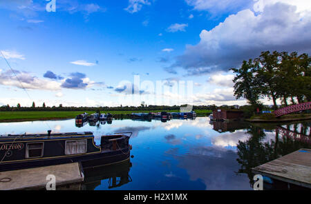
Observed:
[[[245,119],[249,123],[287,123],[293,121],[309,121],[311,120],[311,114],[288,114],[279,118],[272,116],[254,116],[251,119]]]

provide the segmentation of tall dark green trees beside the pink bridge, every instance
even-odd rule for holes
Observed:
[[[297,52],[261,52],[256,59],[243,61],[241,68],[233,68],[234,96],[247,99],[250,105],[259,105],[259,99],[276,100],[285,106],[311,100],[311,57]],[[296,99],[296,100],[295,100]]]

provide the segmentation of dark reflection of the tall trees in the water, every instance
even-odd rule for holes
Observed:
[[[300,128],[299,128],[300,126]],[[310,121],[305,123],[295,123],[294,125],[282,125],[282,128],[296,132],[297,134],[303,134],[304,136],[310,136]],[[241,165],[238,173],[247,174],[249,183],[254,185],[252,168],[263,163],[267,163],[274,159],[290,154],[301,148],[311,148],[310,138],[308,141],[302,140],[299,136],[289,137],[279,132],[277,126],[272,128],[275,132],[274,140],[266,141],[267,135],[263,128],[253,124],[249,124],[247,133],[250,135],[249,139],[245,142],[239,141],[237,145],[238,149],[238,163]]]

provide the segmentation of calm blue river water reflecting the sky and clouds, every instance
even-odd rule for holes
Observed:
[[[310,136],[310,123],[279,126]],[[77,128],[74,119],[0,123],[0,134],[91,131],[99,144],[103,134],[133,132],[131,161],[85,172],[86,190],[251,190],[252,167],[310,148],[310,140],[290,139],[276,125],[212,123],[207,117],[91,125]]]

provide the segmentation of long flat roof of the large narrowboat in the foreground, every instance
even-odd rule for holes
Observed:
[[[64,132],[49,134],[0,134],[1,139],[30,139],[30,138],[64,138],[75,136],[93,136],[93,132]]]

